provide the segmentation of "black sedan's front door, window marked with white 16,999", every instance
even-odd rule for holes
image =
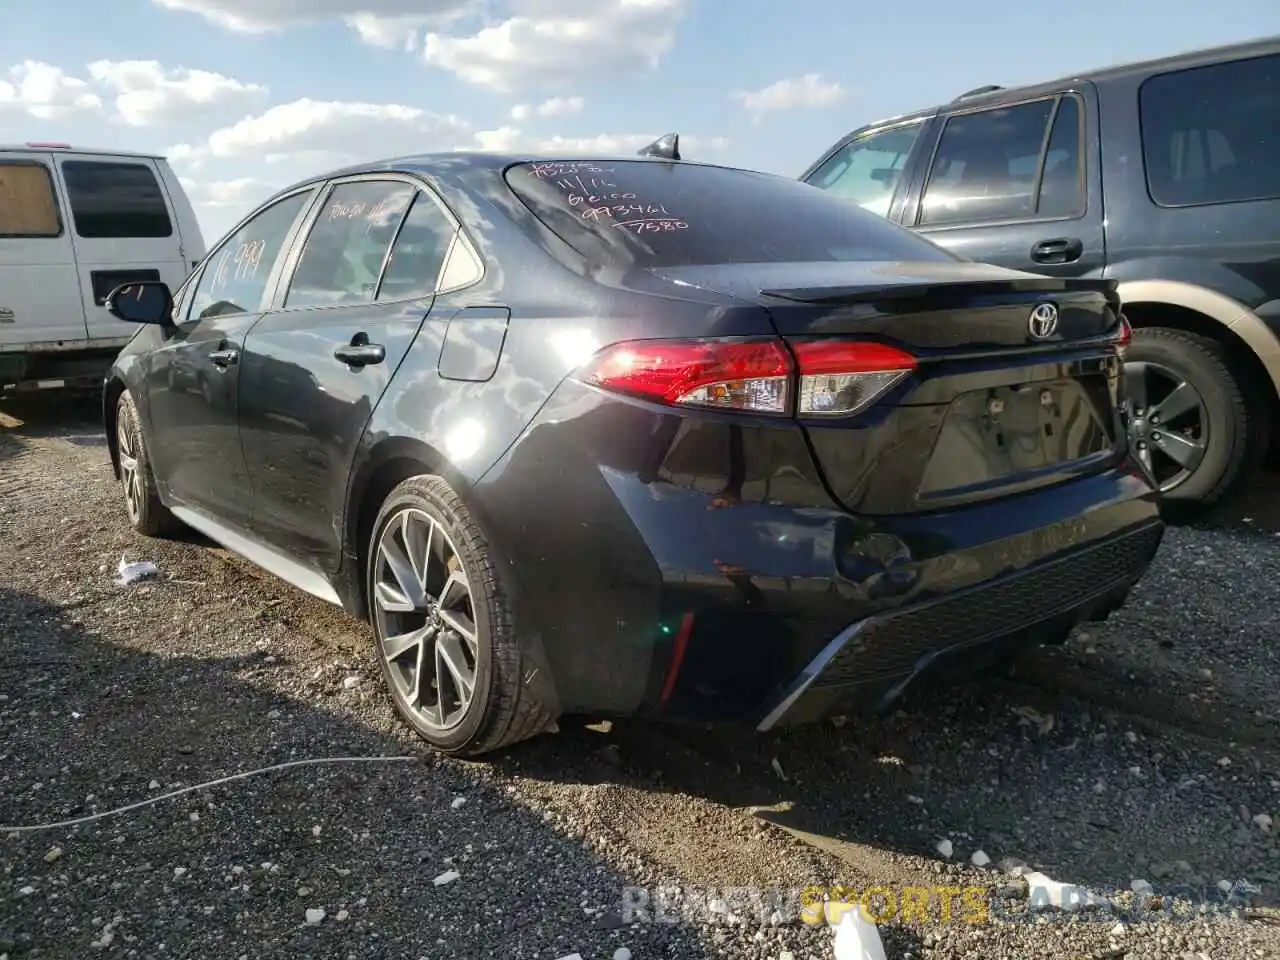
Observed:
[[[248,527],[252,489],[237,424],[244,335],[262,315],[314,189],[256,212],[205,261],[178,329],[147,370],[148,453],[180,506]]]

